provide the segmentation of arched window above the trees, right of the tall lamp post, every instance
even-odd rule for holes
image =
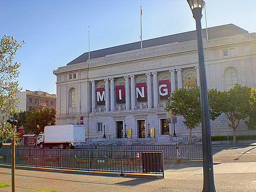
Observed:
[[[225,90],[229,90],[238,83],[238,72],[234,67],[229,67],[224,72]]]

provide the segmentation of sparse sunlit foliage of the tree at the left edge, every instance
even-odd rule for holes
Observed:
[[[15,113],[14,107],[18,104],[18,98],[15,96],[21,90],[16,78],[19,76],[18,68],[20,63],[13,62],[14,55],[19,47],[24,44],[17,43],[14,37],[5,35],[0,44],[0,112],[12,115]],[[17,134],[11,125],[7,123],[0,124],[0,138],[2,140],[17,140]]]

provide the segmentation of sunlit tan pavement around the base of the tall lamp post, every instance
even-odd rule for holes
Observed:
[[[256,191],[256,146],[228,147],[216,151],[214,165],[216,191]],[[165,166],[165,179],[106,177],[49,173],[16,169],[16,191],[202,191],[203,171],[200,165]],[[0,168],[0,182],[11,184],[11,169]],[[11,191],[11,187],[0,188]]]

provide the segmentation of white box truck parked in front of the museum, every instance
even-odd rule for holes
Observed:
[[[61,149],[82,146],[85,142],[84,125],[45,126],[44,133],[38,135],[40,148],[58,146]]]

